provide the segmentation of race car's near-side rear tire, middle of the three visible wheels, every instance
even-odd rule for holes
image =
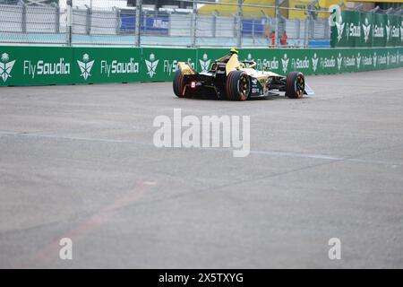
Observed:
[[[251,94],[251,79],[244,71],[231,71],[226,82],[227,100],[247,100]]]

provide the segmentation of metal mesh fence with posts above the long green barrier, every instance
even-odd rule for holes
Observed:
[[[141,1],[137,1],[136,7],[127,7],[124,0],[102,0],[102,5],[99,1],[73,0],[71,6],[27,4],[21,0],[0,4],[0,43],[318,47],[329,46],[330,41],[328,20],[326,17],[314,19],[313,10],[308,8],[294,8],[304,11],[307,15],[304,19],[287,19],[279,10],[291,8],[269,5],[255,6],[273,8],[272,15],[245,14],[241,5],[238,13],[224,15],[219,11],[199,13],[198,7],[205,4],[203,1],[184,1],[190,5],[187,9],[163,7],[158,10],[141,5]],[[326,13],[325,9],[320,11]],[[287,42],[284,35],[287,35]]]

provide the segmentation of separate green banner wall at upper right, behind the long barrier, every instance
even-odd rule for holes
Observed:
[[[330,34],[332,48],[403,47],[403,17],[342,11]]]

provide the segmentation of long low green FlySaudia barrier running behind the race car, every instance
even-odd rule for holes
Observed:
[[[206,71],[223,48],[0,47],[0,85],[171,81],[177,62]],[[240,59],[278,74],[337,74],[403,66],[403,48],[242,49]]]

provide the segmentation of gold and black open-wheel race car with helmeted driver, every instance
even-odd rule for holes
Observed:
[[[216,60],[207,73],[197,73],[190,65],[179,62],[173,80],[174,93],[179,98],[212,96],[219,100],[251,100],[279,95],[273,91],[285,91],[291,99],[313,94],[305,83],[304,74],[291,72],[284,76],[258,71],[254,61],[239,61],[237,54],[231,49],[230,54]]]

